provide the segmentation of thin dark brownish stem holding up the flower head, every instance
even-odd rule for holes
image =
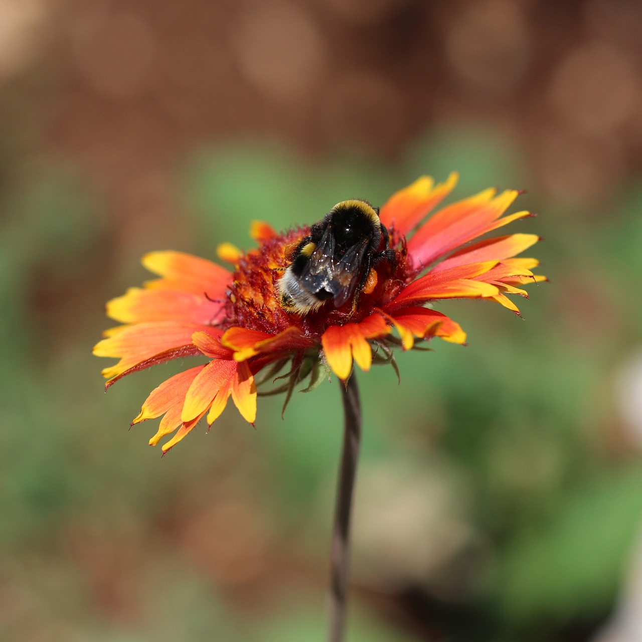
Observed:
[[[332,534],[329,642],[342,642],[345,632],[348,575],[350,570],[350,516],[361,440],[361,404],[357,379],[352,376],[341,387],[343,401],[343,451],[336,494]]]

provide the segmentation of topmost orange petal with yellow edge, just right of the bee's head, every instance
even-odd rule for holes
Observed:
[[[379,210],[381,223],[407,235],[426,214],[453,191],[458,179],[458,173],[453,172],[446,182],[435,186],[429,176],[418,178],[408,187],[390,196]]]

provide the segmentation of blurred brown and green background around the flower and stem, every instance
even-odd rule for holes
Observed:
[[[550,283],[361,376],[351,642],[642,640],[642,4],[0,0],[0,639],[324,639],[336,384],[160,458],[139,257],[518,187]]]

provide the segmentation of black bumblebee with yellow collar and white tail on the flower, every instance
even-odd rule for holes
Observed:
[[[395,252],[379,208],[354,199],[334,205],[286,258],[291,265],[277,283],[281,308],[306,315],[330,299],[334,308],[352,299],[354,310],[372,266],[382,260],[394,266]]]

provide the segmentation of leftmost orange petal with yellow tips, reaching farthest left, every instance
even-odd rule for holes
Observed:
[[[192,334],[206,327],[175,321],[127,325],[122,331],[96,343],[93,352],[99,357],[120,358],[116,365],[103,370],[103,376],[113,380],[154,357],[166,354],[166,358],[160,358],[160,361],[166,361],[173,358],[169,356],[173,350],[192,349]]]

